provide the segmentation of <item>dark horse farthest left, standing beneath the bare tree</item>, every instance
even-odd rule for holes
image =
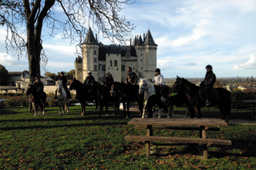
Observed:
[[[31,103],[34,110],[34,116],[36,116],[36,112],[38,111],[38,109],[38,116],[40,116],[41,113],[44,115],[44,107],[46,103],[45,92],[43,92],[42,97],[40,97],[35,86],[29,84],[29,86],[27,87],[26,95],[31,95]]]

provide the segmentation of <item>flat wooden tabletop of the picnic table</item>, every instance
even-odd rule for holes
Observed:
[[[214,118],[132,118],[128,125],[228,126],[227,122]]]

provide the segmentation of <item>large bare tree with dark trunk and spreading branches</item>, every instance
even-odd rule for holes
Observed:
[[[124,44],[134,29],[124,16],[122,5],[129,0],[0,0],[0,23],[7,29],[7,51],[18,56],[27,54],[30,81],[40,75],[48,58],[43,49],[42,28],[51,36],[61,30],[63,37],[74,41],[76,52],[87,33],[87,25],[102,33],[102,37]]]

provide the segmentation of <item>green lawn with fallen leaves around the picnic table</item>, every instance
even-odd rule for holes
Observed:
[[[1,108],[0,169],[255,169],[256,127],[229,124],[221,131],[208,132],[213,138],[230,139],[232,146],[210,146],[209,159],[202,160],[198,145],[156,143],[153,154],[145,156],[145,143],[124,141],[126,135],[143,135],[122,114],[109,117],[93,114],[87,107],[70,107],[58,114],[57,107],[46,108],[44,116],[34,117],[27,107]],[[112,111],[111,111],[112,112]],[[175,114],[184,114],[177,108]],[[251,120],[250,112],[232,110],[231,119]],[[203,117],[220,117],[217,109],[203,109]],[[191,120],[193,121],[193,120]],[[154,131],[154,135],[198,137],[197,131]]]

